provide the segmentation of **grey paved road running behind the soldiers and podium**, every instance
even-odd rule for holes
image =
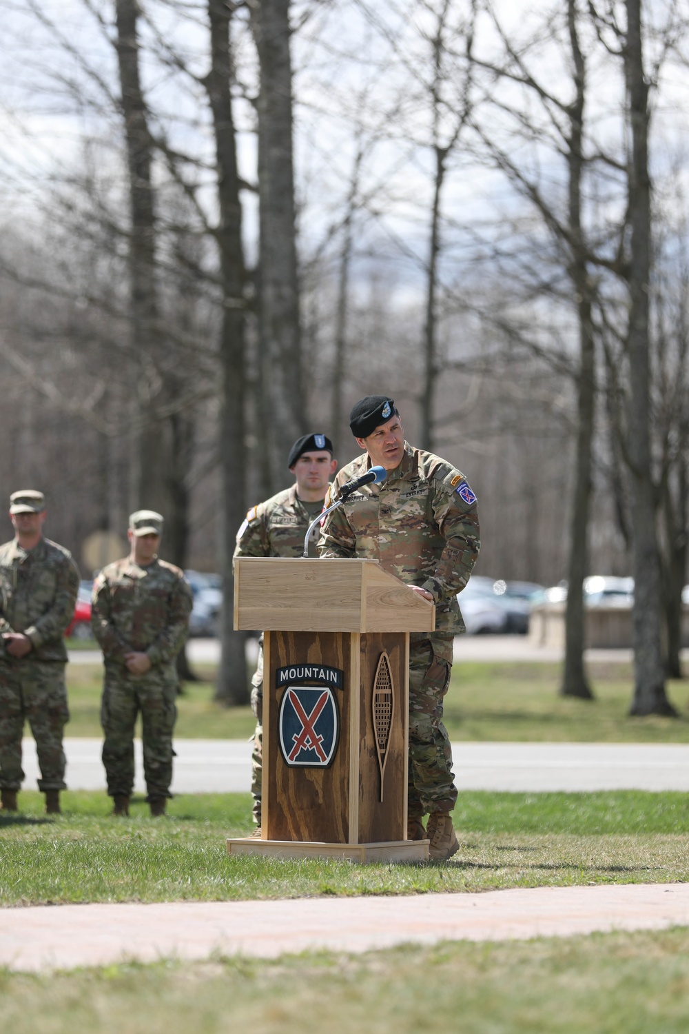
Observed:
[[[144,791],[142,744],[136,740],[136,792]],[[100,739],[65,740],[72,790],[104,789]],[[251,788],[251,742],[177,739],[176,793],[245,793]],[[453,743],[460,790],[689,791],[689,746],[684,743]],[[24,739],[25,786],[38,765],[33,739]]]

